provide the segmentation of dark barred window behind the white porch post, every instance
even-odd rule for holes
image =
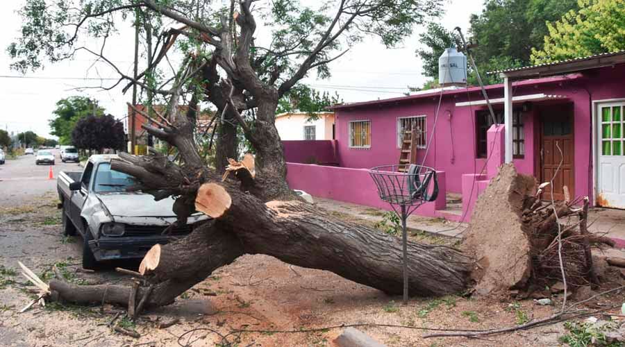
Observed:
[[[494,111],[497,124],[505,124],[503,111]],[[486,158],[487,155],[487,131],[492,126],[490,112],[477,112],[476,132],[477,132],[477,158]],[[512,156],[514,158],[525,157],[525,128],[523,124],[523,113],[521,110],[512,111]]]

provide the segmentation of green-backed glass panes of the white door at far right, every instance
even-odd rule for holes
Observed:
[[[601,108],[601,155],[625,155],[624,105]]]

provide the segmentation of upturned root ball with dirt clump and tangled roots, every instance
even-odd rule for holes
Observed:
[[[529,294],[531,288],[556,282],[565,282],[572,291],[600,284],[591,247],[614,242],[587,232],[588,198],[565,194],[565,201],[542,201],[540,187],[533,176],[503,164],[479,196],[464,243],[475,260],[475,294],[510,289]]]

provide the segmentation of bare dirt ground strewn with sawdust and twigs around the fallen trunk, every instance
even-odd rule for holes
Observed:
[[[422,242],[456,242],[424,234],[412,237]],[[558,310],[558,299],[555,306],[540,306],[531,299],[446,296],[413,298],[404,306],[399,297],[266,255],[240,257],[173,305],[145,312],[135,323],[123,318],[123,308],[100,305],[49,303],[17,313],[33,297],[28,282],[18,274],[18,260],[44,280],[52,278],[51,266],[56,264],[67,280],[79,284],[129,281],[115,271],[76,272],[81,267],[81,244],[80,237],[63,237],[52,194],[28,205],[0,208],[1,346],[332,346],[342,328],[325,327],[360,323],[412,327],[358,328],[388,346],[560,346],[558,337],[565,333],[562,323],[557,323],[487,339],[424,339],[427,331],[419,328],[496,328],[548,316]],[[114,265],[131,268],[137,264]],[[622,291],[616,292],[594,305],[606,307],[623,298]],[[115,324],[135,329],[141,334],[139,339],[108,327],[117,312],[121,315]],[[175,318],[180,323],[156,328],[159,321]],[[306,331],[311,328],[319,330]]]

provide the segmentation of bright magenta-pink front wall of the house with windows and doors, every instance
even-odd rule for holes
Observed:
[[[584,74],[555,78],[542,78],[515,83],[513,95],[558,94],[564,101],[572,103],[574,112],[574,164],[576,195],[592,195],[592,142],[590,131],[592,117],[590,101],[625,97],[625,65],[594,69]],[[503,96],[502,85],[487,86],[491,99]],[[589,92],[592,98],[589,97]],[[449,192],[462,192],[462,175],[479,174],[483,171],[485,159],[475,158],[476,126],[475,112],[484,107],[456,107],[457,102],[482,100],[478,88],[452,90],[442,93],[439,116],[435,131],[435,113],[440,92],[426,96],[408,96],[390,100],[340,105],[336,112],[336,139],[338,159],[342,167],[370,168],[382,164],[397,164],[397,118],[426,115],[427,142],[431,142],[426,166],[445,171]],[[554,101],[532,103],[531,110],[524,112],[525,156],[515,159],[519,172],[538,176],[537,164],[540,155],[540,107]],[[515,103],[515,106],[517,104]],[[496,109],[503,105],[495,105]],[[371,147],[369,149],[349,148],[349,121],[371,121]],[[433,135],[433,138],[431,136]],[[419,149],[419,164],[425,155]],[[590,160],[589,160],[590,159]],[[484,171],[485,172],[485,171]]]

